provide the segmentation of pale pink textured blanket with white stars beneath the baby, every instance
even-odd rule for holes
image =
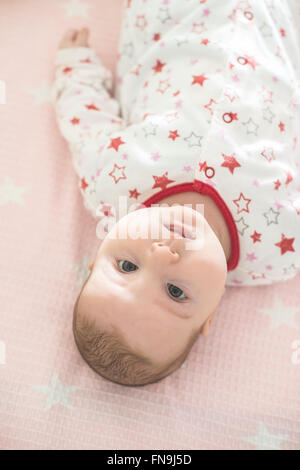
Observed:
[[[91,29],[114,73],[121,14],[120,0],[0,3],[0,448],[300,449],[299,275],[228,287],[209,335],[157,384],[108,382],[75,346],[99,241],[50,84],[70,27]]]

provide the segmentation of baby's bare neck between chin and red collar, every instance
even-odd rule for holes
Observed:
[[[213,201],[213,199],[209,196],[205,196],[197,192],[188,191],[185,193],[167,196],[164,199],[161,199],[156,204],[167,204],[170,206],[175,203],[181,205],[190,204],[194,210],[197,210],[197,204],[204,205],[204,211],[201,211],[201,214],[204,216],[205,220],[208,222],[208,224],[218,237],[223,247],[226,261],[228,262],[231,255],[230,233],[226,221],[223,217],[223,214],[216,205],[216,203]]]

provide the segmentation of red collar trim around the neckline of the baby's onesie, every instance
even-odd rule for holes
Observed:
[[[238,265],[240,258],[239,235],[236,224],[234,222],[230,210],[228,209],[228,206],[226,205],[225,201],[221,198],[219,193],[212,186],[203,183],[199,180],[195,180],[193,183],[176,184],[175,186],[171,186],[160,191],[159,193],[154,194],[141,204],[143,204],[145,207],[149,207],[151,206],[151,204],[155,204],[156,202],[159,202],[161,199],[167,196],[171,196],[172,194],[185,193],[188,191],[210,196],[222,212],[223,217],[227,223],[231,238],[231,256],[227,262],[227,270],[232,271]]]

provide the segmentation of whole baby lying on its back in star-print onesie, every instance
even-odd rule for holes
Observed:
[[[274,3],[126,1],[115,97],[87,28],[60,43],[57,122],[102,239],[73,331],[106,379],[161,380],[226,285],[299,272],[299,11]]]

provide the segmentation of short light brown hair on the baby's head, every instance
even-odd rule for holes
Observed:
[[[139,386],[158,382],[178,369],[200,330],[192,332],[183,353],[163,368],[129,347],[117,329],[114,333],[102,331],[86,316],[79,314],[78,300],[73,313],[73,333],[81,356],[95,372],[120,385]]]

